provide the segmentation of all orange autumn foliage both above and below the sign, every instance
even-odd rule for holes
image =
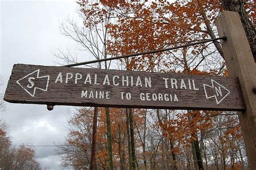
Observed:
[[[215,21],[223,11],[220,1],[203,0],[187,3],[82,0],[78,4],[84,27],[103,31],[97,35],[102,37],[101,45],[84,45],[84,49],[95,55],[91,49],[102,46],[101,55],[105,58],[217,38]],[[253,3],[246,1],[245,9],[254,22]],[[82,38],[77,39],[83,46],[84,42],[79,41]],[[93,44],[97,39],[86,40]],[[118,66],[129,71],[228,76],[217,41],[125,58],[119,60]],[[80,108],[71,116],[66,146],[58,150],[64,166],[89,168],[92,117],[92,108]],[[114,169],[244,169],[247,166],[235,112],[110,108],[110,118]],[[107,169],[109,164],[106,128],[106,112],[100,108],[96,154],[99,169]]]

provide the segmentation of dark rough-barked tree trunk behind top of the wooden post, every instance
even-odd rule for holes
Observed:
[[[255,38],[255,28],[252,22],[249,20],[247,12],[245,11],[245,1],[244,0],[221,0],[220,1],[224,10],[238,12],[242,22],[242,27],[245,30],[246,37],[250,44],[254,61],[256,62],[256,38]]]

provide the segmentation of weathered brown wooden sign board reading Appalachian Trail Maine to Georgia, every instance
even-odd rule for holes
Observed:
[[[11,103],[245,110],[238,78],[16,64]]]

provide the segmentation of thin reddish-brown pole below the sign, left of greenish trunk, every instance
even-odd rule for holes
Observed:
[[[90,170],[94,170],[95,169],[97,118],[98,118],[98,107],[95,107],[94,108],[94,113],[93,113],[93,124],[92,124],[92,148],[91,148]]]

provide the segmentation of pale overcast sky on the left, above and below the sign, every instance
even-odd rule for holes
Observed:
[[[79,18],[75,1],[1,1],[0,0],[0,74],[4,92],[14,64],[57,65],[53,53],[57,49],[75,48],[72,40],[60,35],[59,22]],[[63,144],[68,111],[74,107],[5,103],[0,117],[9,126],[14,145]],[[55,147],[35,147],[42,168],[63,169]]]

